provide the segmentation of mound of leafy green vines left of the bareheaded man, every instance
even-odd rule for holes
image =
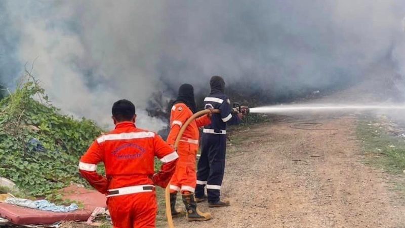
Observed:
[[[0,176],[28,196],[46,196],[71,182],[86,184],[78,160],[101,130],[90,120],[61,115],[27,72],[0,101]]]

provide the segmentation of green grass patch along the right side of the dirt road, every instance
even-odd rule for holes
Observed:
[[[357,136],[362,140],[367,162],[387,172],[399,174],[405,170],[404,138],[390,135],[374,119],[359,120]]]

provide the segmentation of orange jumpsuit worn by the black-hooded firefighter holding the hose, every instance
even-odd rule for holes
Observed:
[[[186,104],[177,103],[173,105],[170,117],[172,128],[167,140],[169,145],[174,145],[181,127],[192,115],[192,111]],[[200,117],[192,121],[184,131],[177,148],[179,161],[176,166],[176,171],[170,180],[171,193],[183,193],[185,191],[194,193],[197,181],[195,159],[198,151],[198,128],[209,125],[210,123],[211,120],[208,116]]]

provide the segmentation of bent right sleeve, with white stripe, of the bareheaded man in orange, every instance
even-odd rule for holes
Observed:
[[[176,169],[179,156],[160,136],[155,135],[153,139],[155,156],[163,163],[160,171],[152,176],[153,183],[165,188]]]

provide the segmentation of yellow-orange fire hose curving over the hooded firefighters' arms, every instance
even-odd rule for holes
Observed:
[[[176,151],[177,151],[177,147],[179,146],[180,139],[183,136],[183,133],[186,130],[187,126],[195,118],[198,118],[200,116],[204,116],[204,115],[206,115],[206,114],[208,114],[210,112],[211,112],[210,109],[201,110],[201,111],[198,111],[198,112],[194,113],[194,115],[192,115],[190,118],[188,118],[186,123],[184,123],[183,127],[180,129],[179,134],[177,135],[176,141],[174,143],[174,148],[175,148]],[[219,112],[220,112],[219,109],[212,110],[212,113],[219,113]],[[166,216],[168,218],[169,228],[174,228],[174,223],[173,223],[173,218],[172,218],[172,209],[170,208],[170,184],[168,184],[168,186],[165,189],[165,200],[166,200]]]

